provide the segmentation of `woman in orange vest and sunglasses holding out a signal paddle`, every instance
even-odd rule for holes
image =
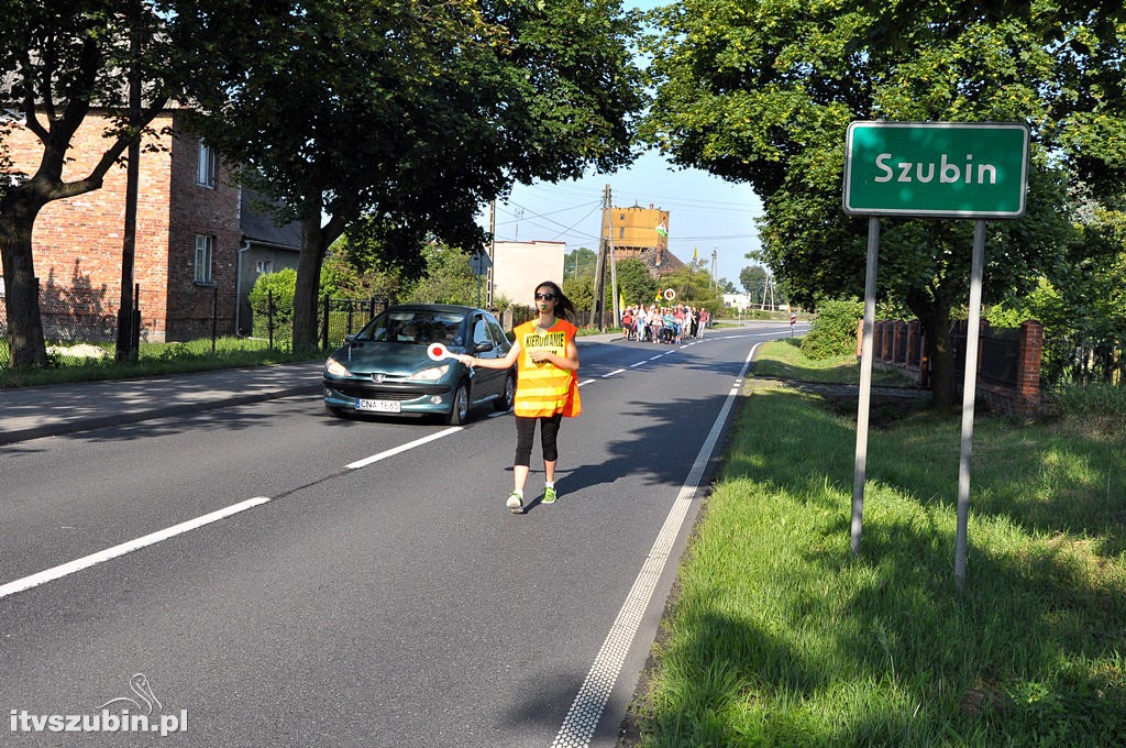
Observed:
[[[555,283],[545,280],[536,286],[538,315],[517,326],[516,340],[503,358],[457,356],[466,366],[509,368],[516,364],[516,458],[512,466],[512,492],[506,505],[515,514],[524,514],[524,486],[531,463],[531,444],[539,425],[539,445],[544,455],[544,498],[554,504],[555,465],[558,461],[560,424],[564,417],[582,412],[579,398],[579,348],[574,337],[579,329],[566,318],[574,315],[574,304]]]

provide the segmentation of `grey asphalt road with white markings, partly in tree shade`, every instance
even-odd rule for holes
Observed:
[[[5,446],[0,743],[151,745],[89,729],[128,710],[169,746],[613,746],[740,374],[787,335],[583,346],[526,515],[483,411],[294,397]]]

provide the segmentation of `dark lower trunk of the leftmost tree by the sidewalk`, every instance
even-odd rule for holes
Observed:
[[[12,368],[46,366],[47,347],[39,314],[39,284],[32,255],[32,228],[43,203],[9,195],[0,219],[5,306],[8,312],[9,362]]]

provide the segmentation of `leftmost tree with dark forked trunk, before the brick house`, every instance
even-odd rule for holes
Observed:
[[[12,366],[46,363],[32,247],[39,212],[52,201],[100,188],[131,143],[159,135],[150,124],[169,101],[216,84],[211,47],[222,37],[191,15],[196,5],[0,0],[0,169],[7,177],[0,185],[0,259]],[[243,14],[227,21],[252,18]],[[236,47],[234,39],[225,43]],[[142,82],[142,100],[140,116],[131,122],[133,74]],[[71,140],[95,108],[109,116],[105,149],[88,172],[64,180]],[[16,127],[42,145],[38,163],[27,171],[15,170],[7,150],[5,135]],[[155,137],[148,142],[159,146]]]

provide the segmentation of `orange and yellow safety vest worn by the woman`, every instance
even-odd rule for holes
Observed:
[[[568,344],[574,340],[578,331],[566,320],[556,320],[546,332],[536,331],[536,320],[516,328],[516,339],[520,342],[520,358],[516,367],[517,416],[539,418],[563,413],[571,418],[582,412],[578,373],[552,364],[536,364],[529,354],[531,350],[547,349],[566,357]]]

